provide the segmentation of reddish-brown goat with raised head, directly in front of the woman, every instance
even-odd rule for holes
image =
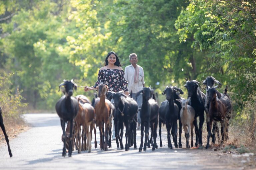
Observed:
[[[99,102],[95,103],[96,125],[98,125],[100,130],[100,148],[101,150],[104,149],[105,151],[107,151],[108,142],[110,142],[109,146],[111,147],[111,141],[108,141],[108,133],[109,133],[109,128],[112,127],[112,124],[111,124],[112,107],[111,107],[111,102],[105,99],[106,93],[108,91],[108,86],[106,84],[100,84],[96,87],[96,90],[98,91],[98,96],[100,98]],[[105,123],[105,128],[104,128],[105,132],[103,130],[104,123]],[[104,137],[106,142],[104,142]]]

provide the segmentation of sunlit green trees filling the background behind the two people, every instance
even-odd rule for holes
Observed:
[[[146,86],[212,75],[239,117],[255,95],[255,14],[253,0],[1,1],[0,67],[30,107],[53,109],[63,79],[93,85],[109,51],[124,67],[135,52]]]

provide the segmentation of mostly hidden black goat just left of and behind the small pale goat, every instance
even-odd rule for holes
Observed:
[[[175,93],[173,93],[174,103],[179,107],[179,113],[180,113],[182,106],[181,106],[181,103],[177,100],[184,99],[180,97],[180,94],[184,94],[184,92],[177,86],[173,87],[173,90],[175,91]],[[182,144],[181,144],[182,123],[180,119],[180,114],[178,114],[178,119],[179,119],[179,148],[181,148],[182,147]],[[193,147],[192,144],[191,144],[191,147]]]

